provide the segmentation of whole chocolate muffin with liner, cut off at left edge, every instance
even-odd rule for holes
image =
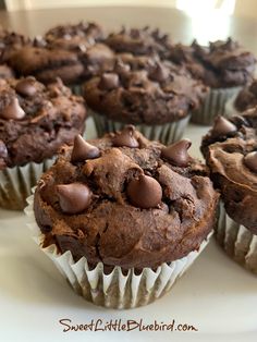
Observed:
[[[84,131],[82,98],[58,80],[0,80],[0,206],[23,209],[30,188],[64,143]]]

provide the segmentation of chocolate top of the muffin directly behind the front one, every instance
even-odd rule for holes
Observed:
[[[188,115],[208,88],[181,68],[123,53],[113,69],[84,85],[89,107],[125,123],[163,124]]]

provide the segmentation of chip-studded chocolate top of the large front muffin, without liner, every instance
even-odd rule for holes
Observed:
[[[199,247],[218,194],[187,139],[149,142],[134,126],[63,147],[35,193],[44,245],[90,266],[157,267]]]

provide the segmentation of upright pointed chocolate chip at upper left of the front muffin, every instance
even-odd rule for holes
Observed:
[[[71,161],[79,162],[87,159],[95,159],[100,156],[98,147],[88,144],[81,135],[74,138],[74,146],[72,150]]]

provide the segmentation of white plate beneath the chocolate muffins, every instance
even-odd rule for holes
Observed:
[[[88,138],[94,135],[88,121]],[[199,157],[206,127],[189,125],[191,152]],[[0,341],[256,341],[257,277],[230,260],[212,241],[170,294],[132,310],[94,306],[77,296],[29,236],[23,213],[0,210]],[[69,331],[60,319],[155,320],[192,325],[197,332]]]

